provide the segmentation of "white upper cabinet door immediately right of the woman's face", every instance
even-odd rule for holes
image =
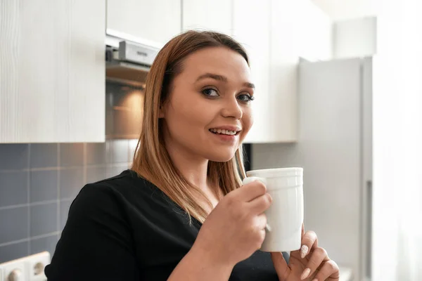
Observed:
[[[250,59],[255,100],[254,124],[245,143],[267,143],[271,139],[269,104],[269,14],[270,0],[234,0],[234,38],[245,47]]]

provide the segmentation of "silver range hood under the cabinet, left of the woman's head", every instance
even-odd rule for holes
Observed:
[[[146,75],[160,48],[107,35],[106,79],[131,86],[145,85]]]

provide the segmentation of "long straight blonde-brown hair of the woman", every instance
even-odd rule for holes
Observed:
[[[217,46],[236,51],[249,65],[248,55],[241,44],[218,32],[184,32],[160,50],[146,79],[142,129],[132,164],[132,170],[136,174],[160,188],[186,211],[189,219],[193,216],[201,223],[205,221],[207,212],[193,195],[200,194],[207,204],[211,205],[211,202],[172,163],[164,145],[162,120],[159,119],[158,112],[160,105],[168,98],[174,77],[183,70],[184,58],[201,48]],[[220,188],[223,195],[239,188],[245,177],[242,147],[236,150],[235,157],[228,162],[208,162],[207,177],[213,185]]]

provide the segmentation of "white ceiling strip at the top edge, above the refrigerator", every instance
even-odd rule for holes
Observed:
[[[334,21],[374,16],[379,1],[382,0],[312,0]]]

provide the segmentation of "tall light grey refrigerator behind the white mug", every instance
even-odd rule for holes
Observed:
[[[302,62],[298,78],[298,142],[253,145],[252,169],[302,166],[305,228],[353,280],[369,280],[372,59]]]

